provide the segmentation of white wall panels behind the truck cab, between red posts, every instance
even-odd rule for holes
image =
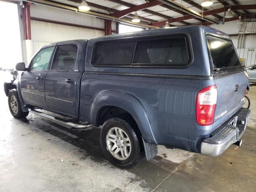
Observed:
[[[30,16],[96,28],[105,26],[103,19],[94,16],[38,4],[31,4]],[[112,30],[116,30],[115,22],[112,22]],[[99,36],[104,36],[104,31],[31,20],[32,52],[27,53],[27,55],[29,54],[28,60],[46,44],[64,40],[91,39]]]

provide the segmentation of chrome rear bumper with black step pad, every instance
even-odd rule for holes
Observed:
[[[218,156],[231,144],[237,142],[244,134],[251,111],[241,108],[224,124],[204,139],[201,144],[201,154],[206,156]]]

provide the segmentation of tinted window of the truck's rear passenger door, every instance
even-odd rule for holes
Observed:
[[[52,70],[71,70],[75,67],[76,45],[59,45],[52,62]]]

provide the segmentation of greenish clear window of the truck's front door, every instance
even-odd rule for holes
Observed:
[[[30,69],[47,70],[54,46],[40,50],[31,61]]]

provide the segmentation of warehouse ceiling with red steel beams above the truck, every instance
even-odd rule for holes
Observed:
[[[81,0],[54,0],[60,4],[78,7]],[[162,27],[166,21],[171,26],[210,25],[223,21],[230,8],[233,17],[225,21],[256,18],[255,0],[212,0],[202,7],[202,0],[86,0],[90,11],[131,20],[137,12],[140,20],[152,26]]]

